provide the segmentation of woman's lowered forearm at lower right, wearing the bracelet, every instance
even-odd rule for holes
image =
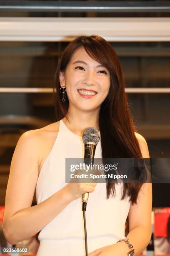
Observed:
[[[139,256],[143,250],[148,246],[150,239],[151,239],[151,228],[148,230],[148,228],[144,226],[136,226],[127,235],[127,238],[129,239],[129,243],[133,244],[133,248],[135,249],[135,256]],[[131,251],[132,249],[128,248],[128,245],[122,241],[119,244],[120,251],[122,252],[121,255],[128,255],[128,251]]]

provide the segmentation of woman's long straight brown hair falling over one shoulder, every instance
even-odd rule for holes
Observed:
[[[119,58],[112,46],[101,36],[79,36],[63,51],[55,72],[53,95],[56,121],[64,118],[68,110],[67,93],[65,92],[65,102],[62,102],[62,94],[59,92],[60,71],[65,72],[72,54],[82,46],[92,59],[102,64],[110,72],[110,90],[100,106],[98,116],[102,158],[142,158],[138,139],[135,136],[137,128],[133,123],[133,117],[128,107],[125,81]],[[121,200],[128,195],[130,202],[136,203],[142,184],[124,183]],[[106,189],[107,199],[111,192],[112,195],[115,195],[114,183],[106,182]]]

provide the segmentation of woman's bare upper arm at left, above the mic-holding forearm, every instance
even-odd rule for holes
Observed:
[[[4,212],[4,228],[9,218],[30,207],[38,178],[39,150],[36,130],[23,133],[15,147],[10,165]]]

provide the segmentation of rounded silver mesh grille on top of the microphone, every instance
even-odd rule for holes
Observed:
[[[82,141],[83,143],[86,142],[94,142],[98,144],[100,141],[100,133],[94,127],[88,127],[84,130],[82,134]]]

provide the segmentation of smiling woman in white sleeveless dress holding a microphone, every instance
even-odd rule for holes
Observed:
[[[87,127],[100,131],[96,158],[149,158],[130,117],[120,61],[105,39],[80,36],[66,47],[54,98],[57,122],[23,133],[15,148],[5,201],[7,240],[14,244],[41,230],[37,256],[85,255],[80,202],[90,192],[88,255],[128,255],[128,244],[118,242],[125,239],[127,217],[127,238],[139,255],[151,238],[150,183],[65,183],[65,158],[84,157]],[[31,207],[35,187],[37,205]]]

